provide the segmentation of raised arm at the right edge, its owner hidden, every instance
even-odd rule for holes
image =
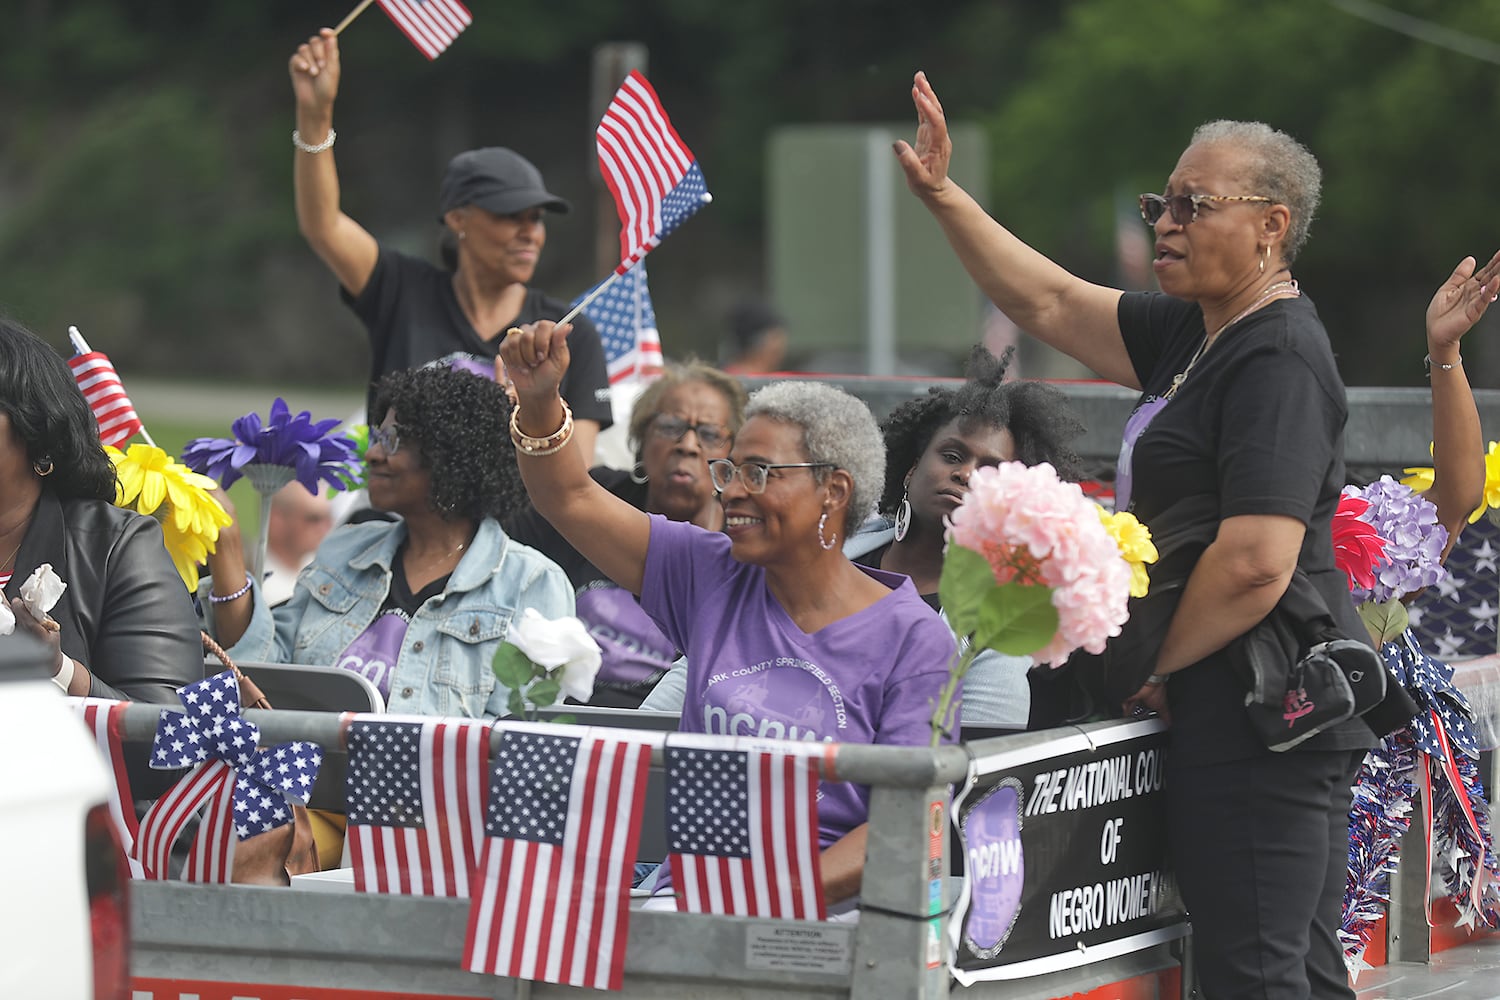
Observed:
[[[1478,274],[1466,256],[1426,307],[1426,355],[1432,381],[1432,501],[1448,528],[1448,547],[1458,541],[1470,511],[1484,504],[1485,441],[1479,408],[1468,387],[1458,342],[1485,315],[1500,285],[1500,253]]]

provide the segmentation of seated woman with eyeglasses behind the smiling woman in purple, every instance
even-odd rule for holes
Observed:
[[[597,466],[590,475],[636,510],[718,531],[724,513],[708,463],[729,454],[744,409],[740,379],[702,361],[668,364],[630,412],[634,468]],[[590,705],[639,708],[676,660],[676,646],[633,594],[615,586],[536,508],[520,513],[507,529],[562,567],[573,585],[578,616],[603,652]]]

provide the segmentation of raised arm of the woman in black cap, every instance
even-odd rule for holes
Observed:
[[[364,226],[339,208],[339,171],[332,139],[340,70],[339,39],[333,30],[322,28],[298,45],[290,70],[297,96],[297,136],[303,144],[292,150],[297,228],[339,283],[351,295],[358,295],[375,271],[380,246]],[[320,148],[326,142],[327,147]]]

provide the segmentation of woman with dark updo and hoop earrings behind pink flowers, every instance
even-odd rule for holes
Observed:
[[[934,387],[886,417],[880,517],[844,546],[861,565],[909,576],[939,612],[944,519],[963,502],[975,469],[1047,462],[1065,480],[1080,475],[1071,442],[1083,423],[1052,385],[1004,381],[1010,360],[1011,351],[996,358],[976,346],[963,385]],[[1024,729],[1029,666],[1028,657],[982,654],[964,678],[963,721]]]

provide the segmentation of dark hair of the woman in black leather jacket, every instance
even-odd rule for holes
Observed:
[[[33,463],[51,462],[45,489],[62,499],[114,502],[114,463],[68,364],[34,333],[3,318],[0,412],[10,418]]]

